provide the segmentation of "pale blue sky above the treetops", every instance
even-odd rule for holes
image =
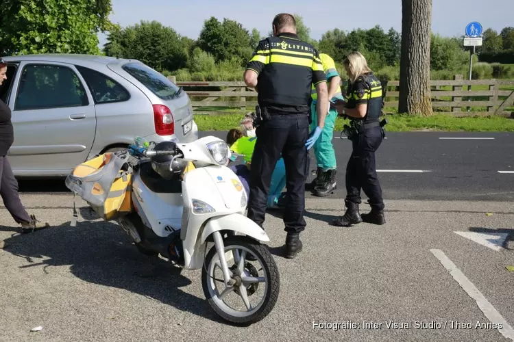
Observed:
[[[122,27],[141,20],[160,21],[173,27],[181,36],[196,39],[204,21],[215,16],[219,21],[229,18],[261,36],[271,31],[273,16],[280,12],[299,14],[310,28],[310,36],[320,39],[328,30],[369,29],[380,25],[384,31],[393,27],[401,31],[402,0],[112,0],[110,20]],[[260,12],[260,13],[258,13]],[[514,26],[514,0],[432,0],[432,31],[443,36],[461,36],[467,23],[478,21],[485,29],[501,31]],[[106,35],[99,34],[100,46]]]

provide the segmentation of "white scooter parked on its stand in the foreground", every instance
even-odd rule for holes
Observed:
[[[259,242],[269,241],[268,235],[245,216],[245,190],[226,166],[228,145],[208,136],[188,144],[160,142],[153,149],[131,146],[130,151],[138,159],[132,166],[135,212],[118,223],[140,252],[160,254],[183,269],[201,268],[204,294],[223,319],[235,324],[264,319],[278,299],[280,277],[267,246]],[[162,172],[166,158],[171,163],[164,161]],[[192,170],[184,170],[188,162]],[[215,246],[205,255],[208,242]],[[216,282],[225,288],[217,289]],[[252,304],[262,287],[262,300]],[[224,302],[230,293],[236,304],[244,304],[242,310]]]

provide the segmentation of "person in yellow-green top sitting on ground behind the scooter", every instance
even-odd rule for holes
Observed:
[[[252,167],[252,155],[257,141],[255,136],[254,122],[252,114],[246,114],[245,118],[240,122],[240,129],[231,129],[227,134],[227,144],[230,150],[238,155],[243,155],[245,163],[236,166],[230,166],[230,169],[239,177],[246,194],[249,198],[249,177],[250,168]],[[286,167],[284,159],[278,159],[275,170],[271,175],[271,184],[269,186],[269,195],[267,207],[269,209],[279,209],[284,207],[286,192],[282,189],[286,186]]]

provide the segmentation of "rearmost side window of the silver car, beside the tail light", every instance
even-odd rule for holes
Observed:
[[[95,103],[122,102],[130,98],[129,92],[120,83],[107,75],[84,66],[75,66],[75,68],[79,70],[80,75],[86,80],[89,90],[93,94],[93,98],[95,98]]]

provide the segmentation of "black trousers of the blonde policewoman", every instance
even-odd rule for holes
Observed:
[[[371,208],[384,209],[382,188],[378,182],[375,152],[384,136],[381,127],[371,127],[352,139],[352,155],[346,167],[347,205],[360,204],[360,189],[363,189]]]

